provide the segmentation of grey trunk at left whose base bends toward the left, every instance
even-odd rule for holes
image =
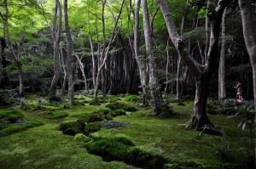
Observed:
[[[55,21],[56,21],[56,14],[58,12],[58,29],[56,29]],[[55,14],[54,14],[54,20],[53,20],[53,26],[52,26],[52,38],[54,41],[54,59],[55,59],[55,65],[54,65],[54,77],[52,79],[52,82],[50,84],[49,88],[49,98],[55,96],[58,82],[61,77],[61,68],[60,68],[60,53],[61,53],[61,18],[62,18],[62,12],[61,12],[61,3],[59,0],[55,0]]]

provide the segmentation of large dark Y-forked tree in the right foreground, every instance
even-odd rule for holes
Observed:
[[[227,1],[219,0],[217,7],[212,9],[212,11],[209,11],[209,14],[207,15],[211,25],[211,37],[205,65],[200,65],[195,61],[191,54],[189,54],[189,49],[183,42],[182,38],[178,35],[176,25],[174,24],[172,14],[170,13],[166,0],[156,1],[160,5],[160,9],[166,20],[167,30],[172,39],[172,43],[175,45],[175,48],[181,55],[184,63],[189,67],[192,76],[195,77],[195,105],[188,127],[195,128],[196,130],[202,130],[206,125],[212,126],[212,123],[207,117],[206,110],[208,87],[212,73],[218,63],[218,57],[216,56],[218,56],[220,23],[224,13],[224,8],[228,3]]]

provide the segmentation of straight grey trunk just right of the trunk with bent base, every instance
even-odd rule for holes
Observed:
[[[73,93],[73,40],[71,37],[71,32],[68,25],[68,14],[67,14],[67,0],[64,0],[64,22],[65,22],[65,31],[67,36],[67,81],[68,81],[68,92],[67,92],[67,99],[68,104],[74,104],[74,93]]]

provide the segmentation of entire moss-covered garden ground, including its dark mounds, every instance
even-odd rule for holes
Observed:
[[[255,168],[255,125],[235,109],[209,100],[208,117],[222,132],[209,135],[185,127],[193,99],[166,98],[178,113],[165,118],[139,101],[76,95],[71,107],[26,95],[1,106],[0,168]]]

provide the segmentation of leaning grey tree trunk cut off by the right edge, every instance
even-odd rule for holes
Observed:
[[[256,110],[256,37],[255,31],[253,30],[254,23],[252,14],[252,2],[250,0],[239,0],[239,7],[241,10],[243,37],[245,39],[247,52],[250,56],[251,64],[253,67],[253,95],[254,107]]]

